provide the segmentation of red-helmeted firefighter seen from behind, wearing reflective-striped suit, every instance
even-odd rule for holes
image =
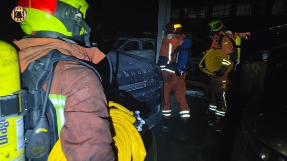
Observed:
[[[163,37],[158,65],[161,68],[164,86],[164,106],[162,110],[164,132],[170,131],[170,120],[172,115],[171,109],[171,91],[174,91],[175,98],[179,103],[179,115],[184,122],[190,119],[189,107],[186,102],[185,92],[185,76],[186,71],[179,72],[178,66],[175,63],[178,51],[178,46],[181,46],[185,34],[182,34],[182,25],[178,21],[171,21],[166,25],[165,36]],[[174,52],[175,51],[175,52]],[[186,61],[188,59],[186,58]]]

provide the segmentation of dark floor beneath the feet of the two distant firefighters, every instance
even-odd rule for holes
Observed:
[[[241,111],[238,110],[242,109],[241,105],[232,100],[238,97],[233,94],[229,98],[229,109],[222,120],[221,132],[208,124],[215,116],[208,111],[208,96],[204,88],[187,85],[186,98],[192,115],[188,122],[190,128],[186,129],[180,120],[172,93],[171,132],[162,132],[162,121],[154,126],[152,132],[156,149],[153,149],[153,156],[147,156],[146,160],[230,160],[234,135],[241,120]]]

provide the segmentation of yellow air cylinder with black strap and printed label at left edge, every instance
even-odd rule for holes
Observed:
[[[0,158],[25,160],[18,52],[2,40],[0,52]]]

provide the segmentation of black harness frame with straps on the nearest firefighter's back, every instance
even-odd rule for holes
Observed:
[[[25,153],[30,160],[46,160],[58,138],[55,109],[49,99],[54,69],[59,61],[76,61],[100,73],[90,62],[66,56],[57,49],[29,64],[21,74],[21,102],[25,122]],[[42,89],[47,82],[46,91]],[[47,119],[49,117],[49,120]]]

